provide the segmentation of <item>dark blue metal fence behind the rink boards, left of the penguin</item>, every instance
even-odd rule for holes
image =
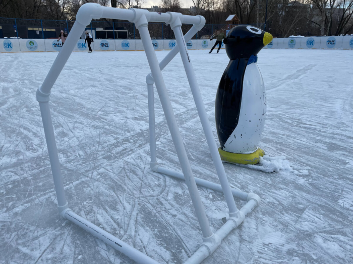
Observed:
[[[68,34],[75,21],[70,20],[35,20],[0,18],[0,38],[21,39],[56,39],[63,30]],[[212,36],[218,30],[227,29],[229,25],[205,25],[193,39]],[[255,25],[263,28],[263,24]],[[187,33],[192,25],[183,25]],[[92,21],[87,25],[94,39],[141,39],[135,24],[130,22]],[[149,23],[148,30],[152,39],[175,39],[173,31],[164,23]],[[84,38],[84,36],[82,36]]]

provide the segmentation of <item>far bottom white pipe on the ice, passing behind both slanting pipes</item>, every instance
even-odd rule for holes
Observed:
[[[183,173],[175,171],[175,170],[172,170],[172,169],[168,169],[168,168],[163,168],[161,166],[157,166],[157,171],[156,172],[160,172],[160,173],[169,175],[171,177],[178,178],[180,180],[184,180],[185,181]],[[215,184],[215,183],[212,183],[212,182],[209,182],[209,181],[206,181],[206,180],[202,180],[202,179],[196,178],[196,177],[194,177],[194,179],[195,179],[195,182],[196,182],[197,185],[200,185],[202,187],[209,188],[209,189],[212,189],[214,191],[223,193],[222,187],[219,184]],[[239,190],[236,190],[236,189],[233,189],[233,188],[230,188],[230,189],[231,189],[231,193],[232,193],[233,196],[238,197],[238,198],[240,198],[240,199],[242,199],[244,201],[248,200],[248,193],[242,192],[242,191],[239,191]]]

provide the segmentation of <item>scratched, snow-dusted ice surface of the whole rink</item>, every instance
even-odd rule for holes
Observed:
[[[56,55],[0,54],[0,263],[133,263],[58,214],[35,99]],[[218,143],[214,101],[228,58],[190,57]],[[259,53],[267,156],[255,169],[224,166],[232,187],[262,201],[203,263],[352,263],[352,61],[350,50]],[[50,96],[56,143],[75,213],[160,263],[183,263],[202,234],[186,184],[149,168],[148,72],[143,51],[74,52]],[[194,175],[218,183],[179,55],[163,77]],[[180,170],[156,93],[155,106],[158,161]],[[199,191],[217,230],[223,196]]]

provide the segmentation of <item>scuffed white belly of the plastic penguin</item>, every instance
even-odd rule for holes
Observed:
[[[266,93],[261,72],[256,63],[247,65],[243,80],[239,122],[224,144],[232,153],[252,153],[261,139],[266,114]]]

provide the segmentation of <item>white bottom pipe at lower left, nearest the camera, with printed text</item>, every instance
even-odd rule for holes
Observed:
[[[91,233],[95,237],[98,237],[104,243],[107,243],[116,250],[127,255],[131,259],[135,260],[140,264],[159,264],[156,260],[149,257],[148,255],[142,253],[141,251],[135,249],[131,245],[125,243],[124,241],[116,238],[115,236],[109,234],[98,226],[92,224],[88,220],[82,218],[81,216],[75,214],[71,209],[67,209],[64,213],[64,217],[79,227],[83,228],[87,232]]]

